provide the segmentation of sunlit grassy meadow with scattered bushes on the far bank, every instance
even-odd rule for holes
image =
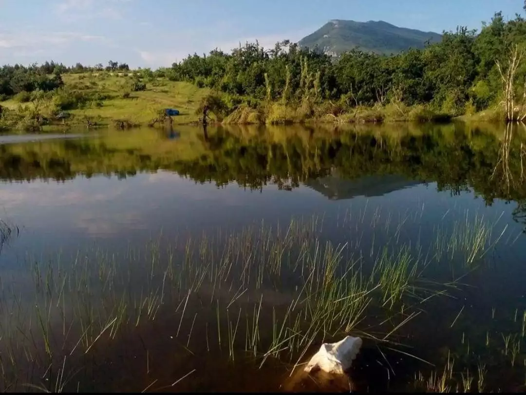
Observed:
[[[86,119],[98,125],[112,125],[115,120],[126,120],[129,125],[145,126],[164,108],[179,110],[175,123],[190,123],[198,120],[196,109],[210,92],[194,84],[172,82],[166,78],[156,78],[146,83],[145,90],[131,92],[131,77],[122,73],[64,74],[63,79],[66,92],[73,96],[72,103],[62,106],[71,115],[65,120],[69,126],[85,125]],[[50,93],[47,96],[38,104],[38,110],[52,117],[58,110],[57,100]],[[20,112],[21,107],[31,110],[35,106],[31,100],[24,101],[15,96],[0,105],[14,112]],[[60,121],[54,123],[62,126]]]

